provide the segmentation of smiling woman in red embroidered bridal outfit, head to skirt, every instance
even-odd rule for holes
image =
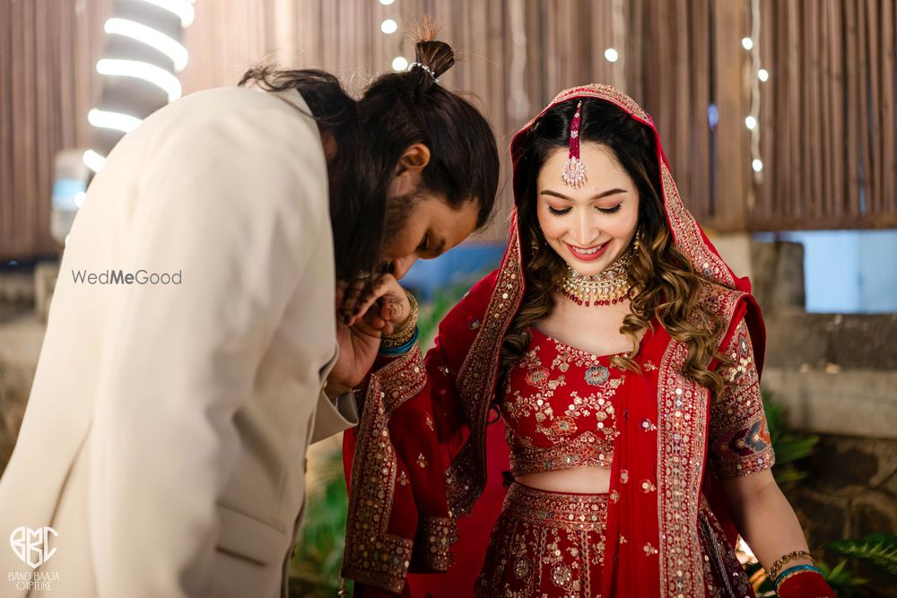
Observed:
[[[563,91],[511,153],[501,267],[425,359],[409,316],[358,392],[356,594],[753,596],[740,532],[779,595],[833,596],[770,472],[750,283],[685,210],[649,115]],[[390,277],[378,293],[413,313]]]

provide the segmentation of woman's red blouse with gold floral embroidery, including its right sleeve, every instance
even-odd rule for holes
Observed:
[[[646,332],[642,345],[649,340]],[[727,379],[727,392],[712,405],[710,418],[710,464],[717,477],[759,472],[773,462],[744,322],[727,352],[735,365],[720,372]],[[642,372],[657,370],[642,353],[635,357]],[[639,386],[627,384],[637,374],[611,365],[614,355],[596,356],[530,329],[527,350],[510,368],[500,403],[515,477],[586,466],[611,468],[614,438],[622,427],[618,407],[629,393],[639,392]],[[642,423],[653,426],[649,420]]]

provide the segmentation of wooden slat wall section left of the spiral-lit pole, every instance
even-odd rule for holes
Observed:
[[[0,0],[0,260],[57,250],[53,156],[90,143],[107,0]]]

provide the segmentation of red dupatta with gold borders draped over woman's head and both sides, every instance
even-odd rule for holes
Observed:
[[[703,305],[730,324],[719,345],[724,346],[744,317],[761,369],[765,334],[750,282],[736,278],[684,208],[653,121],[628,96],[604,85],[562,91],[545,110],[585,98],[623,108],[655,134],[666,221],[675,247],[708,282]],[[516,201],[524,192],[525,177],[518,167],[527,134],[545,110],[511,142]],[[501,437],[487,434],[492,432],[487,429],[489,405],[496,391],[501,341],[524,294],[523,259],[515,217],[500,268],[477,283],[443,320],[436,347],[425,363],[420,351],[411,351],[375,368],[370,377],[361,424],[347,434],[350,450],[345,457],[353,483],[344,576],[360,580],[363,595],[378,594],[375,586],[410,594],[404,583],[409,570],[446,570],[454,522],[472,508],[473,518],[460,520],[461,540],[453,551],[460,558],[483,553],[501,496],[495,491],[500,476],[490,467],[496,462],[501,467],[507,455],[507,447],[498,446]],[[619,410],[626,416],[614,446],[602,595],[703,596],[703,496],[734,539],[734,527],[716,499],[715,481],[704,476],[709,392],[680,373],[687,345],[671,339],[662,328],[641,351],[658,367],[650,376],[638,377],[645,385],[644,395],[656,400],[631,401]],[[399,420],[402,425],[396,423]],[[421,425],[413,428],[414,422]],[[360,455],[354,463],[353,447]],[[433,467],[437,463],[445,468],[444,480]],[[487,472],[490,499],[478,502],[487,488]],[[407,483],[412,474],[417,485]],[[650,481],[654,490],[644,491],[641,481]],[[439,533],[431,533],[434,527]],[[438,558],[428,560],[428,555]],[[378,567],[384,563],[391,565]],[[452,583],[458,586],[448,593],[443,576],[421,576],[412,583],[414,594],[424,595],[418,588],[425,585],[437,597],[472,595],[477,572],[454,572]]]

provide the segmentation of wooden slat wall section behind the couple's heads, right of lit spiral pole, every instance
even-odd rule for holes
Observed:
[[[440,39],[457,50],[457,65],[443,75],[441,83],[465,91],[483,109],[503,154],[511,135],[558,91],[583,82],[615,83],[644,102],[657,118],[666,152],[676,165],[680,191],[696,213],[710,216],[706,108],[712,0],[678,0],[672,8],[666,7],[666,0],[650,0],[647,8],[616,1],[623,12],[619,39],[614,39],[614,0],[396,0],[390,6],[374,0],[268,0],[258,3],[256,12],[263,19],[290,22],[278,27],[295,31],[296,38],[291,40],[287,34],[267,42],[259,38],[252,19],[234,18],[231,5],[236,0],[197,2],[196,24],[186,34],[190,65],[182,79],[185,91],[228,84],[252,61],[264,57],[331,70],[349,82],[352,91],[359,91],[373,76],[388,70],[393,56],[413,58],[411,36],[423,15],[429,15],[440,26]],[[511,75],[515,49],[510,13],[515,2],[523,13],[524,29],[518,34],[526,36],[526,51],[517,56],[525,61],[522,92],[516,89],[520,82]],[[399,23],[399,31],[390,36],[379,31],[379,23],[388,17]],[[645,34],[630,36],[633,30]],[[640,39],[648,41],[640,44]],[[670,44],[675,45],[673,51]],[[605,49],[614,45],[622,55],[621,65],[605,60]],[[638,54],[629,56],[631,51]],[[625,69],[620,68],[623,65]],[[640,73],[651,76],[641,81]],[[528,109],[518,114],[512,96],[522,96]],[[677,157],[682,160],[677,162]],[[509,175],[504,164],[501,213],[509,212]],[[726,194],[736,202],[741,195]],[[486,236],[501,238],[506,226],[504,219],[497,219]]]

